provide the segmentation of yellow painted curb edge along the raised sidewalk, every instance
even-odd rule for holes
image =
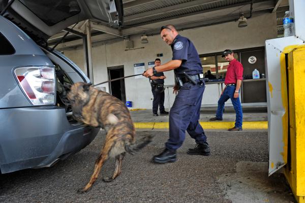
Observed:
[[[229,129],[234,127],[235,122],[200,122],[203,129]],[[143,122],[134,123],[136,128],[150,128],[150,129],[168,129],[168,122]],[[243,130],[251,129],[268,129],[267,121],[246,121],[242,122]]]

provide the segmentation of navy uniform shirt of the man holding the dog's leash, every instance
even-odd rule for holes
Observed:
[[[182,60],[180,67],[174,69],[176,77],[202,73],[202,66],[199,55],[194,44],[186,37],[177,35],[171,45],[173,51],[172,60]]]

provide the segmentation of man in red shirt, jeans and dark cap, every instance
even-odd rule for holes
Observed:
[[[234,59],[234,52],[231,49],[226,49],[223,52],[222,57],[225,57],[226,61],[229,62],[225,78],[226,87],[222,91],[221,97],[218,100],[216,117],[210,119],[209,121],[222,121],[225,102],[228,101],[228,99],[231,99],[234,110],[236,112],[236,119],[235,126],[228,130],[239,131],[242,130],[242,109],[238,97],[242,81],[243,67],[236,59]]]

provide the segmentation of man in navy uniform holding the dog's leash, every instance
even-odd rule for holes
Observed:
[[[174,93],[178,94],[169,112],[169,139],[165,150],[153,160],[157,163],[176,161],[176,150],[181,147],[186,131],[196,141],[195,148],[189,149],[188,154],[208,156],[210,149],[198,121],[205,85],[197,50],[188,38],[178,34],[173,25],[162,26],[160,34],[172,48],[172,60],[147,69],[143,75],[150,77],[158,72],[174,70]]]

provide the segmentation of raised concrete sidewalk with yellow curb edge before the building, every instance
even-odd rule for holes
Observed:
[[[168,110],[168,109],[166,109]],[[204,107],[200,110],[199,122],[204,129],[228,129],[234,127],[235,111],[233,107],[225,107],[223,121],[209,122],[210,118],[215,117],[217,107]],[[268,115],[267,107],[242,107],[243,129],[267,129]],[[131,111],[132,120],[136,128],[163,129],[168,128],[168,115],[153,116],[153,110]]]

